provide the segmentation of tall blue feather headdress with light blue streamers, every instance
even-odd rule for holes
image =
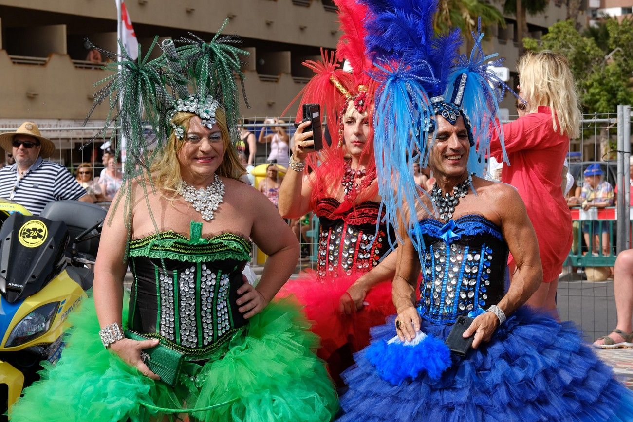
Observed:
[[[501,60],[493,60],[497,54],[484,54],[480,23],[472,33],[472,52],[464,56],[459,54],[459,30],[434,34],[437,0],[360,1],[371,12],[365,23],[365,42],[377,65],[372,72],[379,84],[374,142],[382,207],[387,221],[396,227],[404,225],[420,251],[422,235],[413,210],[436,210],[415,183],[411,165],[415,161],[428,164],[434,116],[453,124],[463,116],[471,144],[468,171],[483,176],[492,130],[503,146],[498,102],[509,88],[489,70]]]

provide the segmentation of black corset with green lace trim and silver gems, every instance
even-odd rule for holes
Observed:
[[[250,259],[251,244],[233,233],[201,239],[161,232],[130,242],[134,275],[128,325],[161,338],[189,360],[212,359],[246,325],[237,310],[237,289]]]

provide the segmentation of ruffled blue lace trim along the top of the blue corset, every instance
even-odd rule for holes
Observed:
[[[418,222],[418,225],[420,225],[420,232],[423,235],[429,235],[437,239],[445,239],[446,230],[448,230],[451,221],[454,223],[451,225],[451,240],[458,240],[464,236],[487,233],[503,241],[503,235],[501,235],[499,226],[479,214],[463,215],[457,220],[450,220],[446,224],[435,218],[424,218]]]

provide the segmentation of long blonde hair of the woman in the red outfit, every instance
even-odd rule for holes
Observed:
[[[517,63],[519,84],[527,101],[527,113],[548,106],[555,132],[576,138],[580,134],[580,102],[572,71],[565,56],[544,50],[527,51]],[[559,127],[560,126],[560,127]]]

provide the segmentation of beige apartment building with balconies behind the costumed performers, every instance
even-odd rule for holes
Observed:
[[[491,3],[501,9],[503,0]],[[542,15],[527,16],[529,35],[539,38],[564,20],[567,9],[561,3],[552,0]],[[224,33],[239,35],[251,53],[242,65],[251,104],[251,109],[242,105],[245,116],[280,115],[311,76],[301,62],[318,58],[320,47],[333,49],[340,35],[332,0],[126,0],[125,5],[141,54],[155,35],[178,39],[191,31],[211,39],[229,18]],[[91,107],[93,84],[109,74],[86,60],[84,39],[116,50],[115,0],[0,0],[0,28],[0,130],[25,119],[44,127],[79,126]],[[506,16],[506,27],[490,32],[487,50],[498,51],[516,75],[515,18]],[[502,105],[512,104],[508,99]],[[104,105],[92,118],[103,120],[106,114]],[[91,133],[58,131],[58,149],[75,149],[78,138]],[[61,156],[60,161],[73,160]]]

